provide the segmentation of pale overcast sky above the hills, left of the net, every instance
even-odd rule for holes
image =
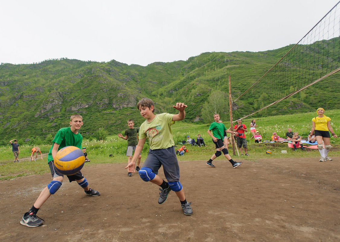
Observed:
[[[295,44],[338,0],[1,1],[0,62],[146,66]]]

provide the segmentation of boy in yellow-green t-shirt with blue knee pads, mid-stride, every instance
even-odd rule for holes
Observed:
[[[184,103],[177,102],[173,108],[179,111],[178,114],[154,114],[154,103],[149,98],[143,98],[137,104],[137,108],[145,118],[145,122],[139,129],[139,141],[135,150],[132,161],[126,166],[128,172],[135,172],[135,164],[138,155],[143,149],[146,138],[149,138],[150,149],[148,157],[143,163],[143,167],[138,174],[143,181],[151,181],[161,188],[158,199],[159,204],[163,204],[169,192],[172,190],[176,193],[181,201],[181,206],[185,215],[192,214],[191,203],[188,203],[183,186],[180,183],[180,168],[178,165],[176,152],[174,149],[175,142],[172,138],[171,125],[175,121],[183,120],[185,117]],[[168,182],[158,176],[158,169],[163,165],[164,175]]]

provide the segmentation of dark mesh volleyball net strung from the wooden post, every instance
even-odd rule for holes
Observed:
[[[233,116],[249,117],[339,70],[340,1],[265,75],[233,100]]]

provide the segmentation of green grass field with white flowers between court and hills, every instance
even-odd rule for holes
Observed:
[[[340,127],[340,110],[330,110],[325,113],[331,118],[331,126],[333,127],[336,134],[339,135]],[[304,113],[304,114],[293,114],[293,115],[278,115],[272,117],[261,117],[256,118],[256,124],[258,127],[256,130],[260,132],[264,140],[269,140],[271,138],[272,132],[277,132],[280,137],[285,137],[287,128],[292,128],[293,131],[299,132],[303,137],[306,137],[311,129],[311,119],[317,116],[316,112]],[[299,158],[299,157],[314,157],[318,159],[318,150],[307,149],[307,152],[302,150],[293,151],[288,148],[286,143],[283,144],[255,144],[254,140],[250,140],[251,133],[249,129],[249,124],[252,118],[243,120],[248,128],[248,133],[246,133],[248,141],[248,151],[251,156],[249,157],[238,157],[232,156],[233,159],[239,160],[249,160],[256,162],[258,159],[268,158],[265,153],[267,149],[272,151],[271,158]],[[211,122],[214,120],[211,118]],[[229,128],[229,121],[223,120],[227,128]],[[186,136],[190,135],[191,138],[197,138],[197,134],[201,134],[204,138],[204,142],[207,147],[191,147],[188,146],[189,152],[184,156],[178,157],[179,161],[193,161],[193,160],[208,160],[213,153],[215,153],[215,146],[212,143],[210,136],[207,134],[207,130],[210,126],[209,124],[196,125],[193,123],[176,122],[172,126],[173,138],[175,145],[180,146],[178,142],[186,140]],[[121,138],[118,138],[117,134],[108,136],[105,141],[88,141],[83,140],[83,146],[86,147],[88,158],[91,162],[86,165],[93,164],[105,164],[105,163],[127,163],[127,157],[125,156],[127,142]],[[340,139],[331,138],[331,145],[334,147],[329,156],[339,156],[340,151]],[[50,144],[40,145],[41,152],[45,154],[43,160],[38,159],[36,162],[30,162],[29,157],[31,156],[31,148],[33,146],[20,144],[20,155],[19,159],[22,162],[14,163],[14,156],[12,153],[12,147],[8,145],[0,146],[0,180],[13,179],[19,176],[26,176],[31,174],[43,174],[49,172],[47,166],[47,153],[51,147]],[[146,158],[149,146],[144,146],[142,150],[142,161]],[[232,146],[229,145],[229,153],[232,154]],[[287,150],[287,154],[282,154],[281,150]],[[109,157],[112,154],[113,157]],[[39,157],[38,157],[39,158]],[[223,158],[221,158],[223,159]]]

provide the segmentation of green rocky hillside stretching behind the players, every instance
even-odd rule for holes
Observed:
[[[207,52],[187,61],[155,62],[148,66],[62,58],[36,64],[0,65],[0,140],[14,136],[24,140],[46,138],[68,126],[74,113],[83,116],[82,134],[89,138],[104,128],[108,134],[126,128],[132,118],[136,126],[144,120],[136,104],[149,97],[156,112],[174,113],[172,105],[188,105],[185,122],[202,120],[209,96],[216,91],[238,97],[266,73],[289,49],[265,52]],[[340,109],[339,75],[333,75],[273,107],[257,117],[304,113],[319,106]],[[225,102],[225,103],[223,103]],[[228,119],[228,100],[219,105]],[[223,108],[221,108],[223,107]]]

